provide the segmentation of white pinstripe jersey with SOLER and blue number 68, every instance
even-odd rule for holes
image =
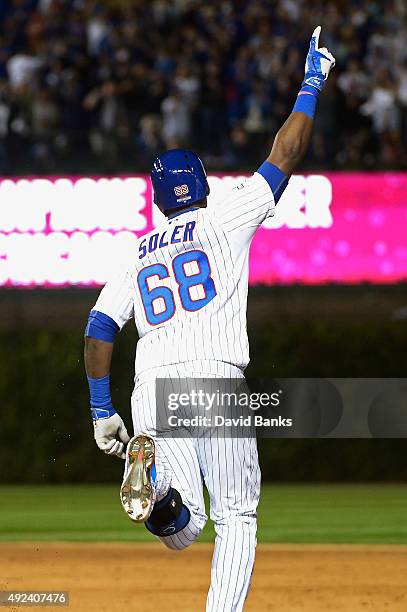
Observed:
[[[273,193],[256,172],[215,205],[182,211],[139,239],[94,306],[120,328],[134,317],[137,375],[196,360],[247,366],[249,248],[273,214]]]

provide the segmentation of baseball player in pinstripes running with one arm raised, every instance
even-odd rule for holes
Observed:
[[[208,489],[216,531],[208,612],[242,610],[249,590],[260,494],[256,441],[157,435],[156,381],[244,379],[250,243],[310,141],[318,96],[335,64],[319,48],[320,30],[291,115],[242,185],[208,207],[206,173],[194,153],[176,149],[156,158],[154,202],[165,221],[140,238],[126,269],[103,288],[85,332],[94,436],[102,451],[126,460],[120,499],[130,519],[181,550],[205,525],[203,483]],[[139,341],[129,439],[111,402],[109,372],[116,333],[131,318]]]

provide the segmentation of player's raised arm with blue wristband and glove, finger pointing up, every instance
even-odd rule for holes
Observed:
[[[288,178],[303,159],[311,139],[318,96],[323,89],[335,58],[325,47],[319,48],[321,27],[315,28],[305,63],[305,77],[291,115],[278,131],[267,162],[275,168],[273,189],[276,201]],[[280,171],[280,173],[279,173]]]

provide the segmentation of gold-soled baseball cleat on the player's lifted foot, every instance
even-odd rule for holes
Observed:
[[[127,445],[120,501],[128,517],[136,523],[144,523],[154,506],[154,456],[155,445],[150,436],[140,434],[131,438]]]

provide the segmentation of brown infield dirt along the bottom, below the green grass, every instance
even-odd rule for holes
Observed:
[[[80,612],[199,612],[211,554],[205,544],[181,553],[159,543],[0,544],[0,590],[67,590]],[[405,611],[407,547],[259,545],[245,612],[254,610]]]

